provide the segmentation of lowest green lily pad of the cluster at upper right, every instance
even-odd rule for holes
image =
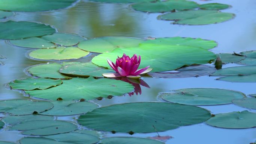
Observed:
[[[206,25],[228,21],[234,18],[233,13],[219,12],[217,10],[187,10],[160,15],[164,20],[175,20],[173,24]]]

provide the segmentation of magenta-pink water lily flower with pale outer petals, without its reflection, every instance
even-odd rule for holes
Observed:
[[[134,54],[131,58],[127,55],[123,55],[121,58],[116,59],[116,64],[107,59],[110,67],[116,71],[116,73],[104,73],[105,77],[129,77],[129,78],[140,78],[139,74],[145,74],[153,70],[149,66],[138,70],[140,65],[141,57]]]

